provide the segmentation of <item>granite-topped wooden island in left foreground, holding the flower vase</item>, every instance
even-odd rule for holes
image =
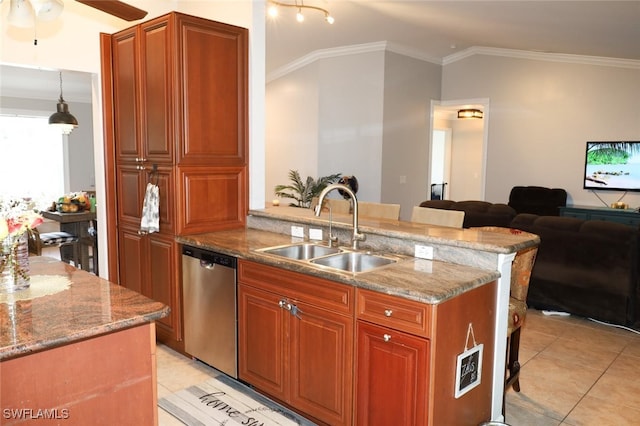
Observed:
[[[0,294],[0,424],[157,424],[154,321],[168,308],[31,257],[31,287]]]

